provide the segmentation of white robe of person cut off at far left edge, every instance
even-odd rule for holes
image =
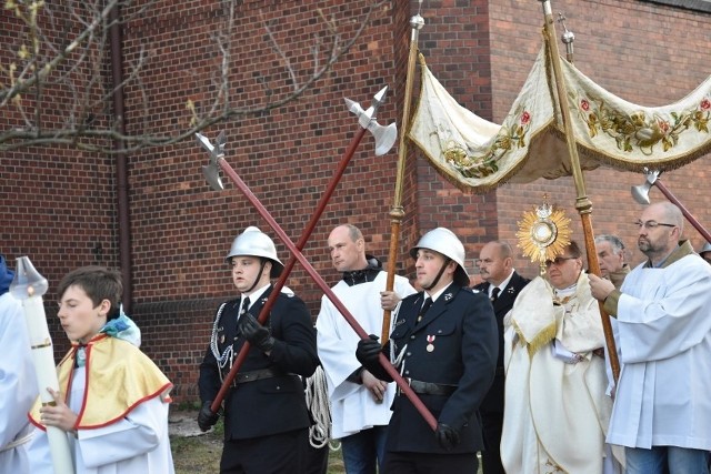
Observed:
[[[27,412],[37,399],[37,380],[24,311],[10,293],[0,295],[0,473],[29,473]]]

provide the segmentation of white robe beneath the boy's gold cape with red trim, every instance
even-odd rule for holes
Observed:
[[[69,407],[81,411],[86,371],[73,371]],[[76,474],[173,474],[168,435],[169,404],[149,399],[110,425],[68,434]],[[53,474],[47,432],[36,428],[29,446],[32,474]]]

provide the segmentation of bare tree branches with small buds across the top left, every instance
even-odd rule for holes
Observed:
[[[280,43],[276,28],[281,21],[269,20],[267,13],[260,10],[267,47],[274,52],[278,61],[264,61],[263,68],[253,73],[253,85],[261,84],[262,93],[257,100],[250,97],[251,101],[246,101],[239,91],[232,95],[236,90],[232,84],[233,68],[238,64],[237,59],[232,58],[232,37],[238,20],[237,0],[222,0],[223,14],[219,17],[222,20],[211,36],[219,61],[214,62],[211,80],[207,83],[196,75],[197,72],[189,72],[202,82],[200,88],[206,90],[199,94],[199,101],[187,99],[183,108],[174,111],[177,117],[182,117],[184,124],[174,127],[168,133],[164,130],[151,132],[151,125],[154,125],[151,118],[153,107],[146,70],[150,61],[160,59],[157,54],[141,46],[124,61],[127,74],[122,83],[106,84],[111,9],[124,7],[132,12],[130,18],[122,19],[123,22],[140,20],[152,0],[140,8],[134,3],[130,0],[69,1],[60,12],[60,7],[41,0],[6,0],[7,12],[24,26],[24,37],[18,50],[11,51],[9,62],[3,59],[8,58],[7,52],[0,56],[0,111],[14,117],[14,127],[8,124],[0,129],[0,150],[70,145],[92,152],[131,153],[191,139],[196,132],[222,121],[261,115],[296,100],[312,88],[349,52],[370,24],[372,16],[389,2],[373,1],[360,18],[346,19],[357,24],[346,41],[339,31],[339,22],[333,18],[327,19],[323,11],[317,9],[323,31],[313,34],[310,47],[312,67],[306,74],[288,52],[291,44]],[[264,74],[267,70],[272,72]],[[286,74],[289,89],[270,85],[272,73]],[[64,117],[61,123],[43,119],[42,105],[48,100],[44,92],[54,92],[56,88],[71,95],[71,101],[62,108]],[[134,127],[138,131],[122,133],[110,115],[111,99],[119,88],[130,88],[132,91],[131,110],[136,117],[131,122],[142,123],[142,127]],[[242,107],[238,107],[240,101]],[[114,150],[113,140],[122,141],[124,148]]]

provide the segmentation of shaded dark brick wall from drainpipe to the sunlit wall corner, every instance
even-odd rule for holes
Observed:
[[[349,2],[328,7],[327,3],[340,2],[318,3],[324,16],[334,18],[339,26],[349,18],[358,18],[365,4]],[[485,7],[484,2],[479,3]],[[234,51],[236,57],[240,57],[240,67],[233,72],[240,84],[238,90],[242,92],[236,95],[236,100],[244,101],[246,107],[259,102],[252,98],[259,93],[249,92],[254,88],[256,74],[267,77],[270,84],[283,81],[283,87],[288,87],[287,78],[269,75],[279,70],[273,65],[278,59],[264,43],[259,11],[273,21],[272,30],[282,40],[281,30],[298,26],[300,36],[287,42],[284,52],[298,58],[294,69],[302,70],[309,67],[308,50],[312,46],[312,36],[322,33],[322,24],[313,21],[314,7],[302,2],[281,2],[279,9],[259,2],[243,4],[236,29],[238,36],[233,37],[240,46]],[[485,52],[488,22],[485,16],[477,14],[482,8],[475,4],[457,8],[445,16],[425,12],[429,17],[425,20],[431,26],[422,39],[427,44],[423,52],[432,53],[440,49],[461,52],[479,43],[478,48]],[[171,68],[156,63],[159,69],[149,71],[154,80],[144,84],[151,97],[167,101],[162,108],[166,113],[176,114],[187,97],[197,102],[200,100],[201,95],[196,90],[200,91],[209,82],[209,64],[214,62],[214,58],[206,53],[209,58],[204,59],[204,64],[203,61],[196,63],[196,58],[182,50],[182,39],[203,38],[220,16],[202,11],[191,16],[191,22],[181,23],[173,18],[177,13],[157,11],[156,14],[156,19],[147,17],[127,29],[126,48],[127,51],[136,51],[137,46],[146,43],[147,37],[157,29],[160,38],[151,42],[157,42],[161,51],[179,51],[169,53],[167,61],[162,61],[170,62]],[[367,30],[367,36],[314,91],[266,117],[239,118],[207,131],[211,138],[220,130],[227,131],[228,162],[293,241],[299,239],[357,131],[342,98],[349,97],[367,105],[380,87],[389,84],[391,95],[379,113],[380,122],[388,124],[401,115],[411,14],[403,2],[385,4],[380,17]],[[173,29],[160,28],[161,24],[173,23],[177,26]],[[349,31],[347,28],[343,34]],[[443,39],[439,38],[440,34]],[[441,54],[434,57],[439,58],[437,63],[448,68],[459,90],[470,93],[477,103],[488,103],[485,107],[491,108],[485,53],[481,63],[461,63],[455,58]],[[266,58],[271,61],[268,65],[264,64]],[[130,62],[129,57],[127,62]],[[168,79],[161,78],[177,71],[183,71],[178,72],[183,80],[170,82],[171,87],[167,89],[164,82]],[[202,97],[207,95],[204,92]],[[128,91],[129,110],[136,111],[137,107],[130,104],[139,99],[138,94]],[[187,113],[183,118],[188,118]],[[180,118],[173,115],[172,120]],[[129,115],[128,122],[136,127],[138,120]],[[168,117],[158,115],[152,117],[150,123],[170,127],[171,122]],[[180,384],[177,391],[179,399],[193,396],[196,369],[206,347],[214,309],[221,299],[232,294],[228,268],[222,260],[231,240],[251,224],[274,236],[231,182],[224,180],[228,190],[220,194],[206,185],[199,172],[204,159],[201,150],[189,140],[171,149],[152,150],[131,159],[133,281],[138,303],[134,314],[150,331],[149,334],[156,334],[156,337],[149,334],[144,337],[146,350],[154,353],[161,366]],[[326,239],[330,230],[341,222],[359,225],[367,235],[369,252],[387,260],[390,244],[388,215],[393,200],[397,160],[394,151],[374,157],[372,139],[367,137],[342,177],[304,249],[304,254],[328,284],[333,284],[338,275],[328,261]],[[407,250],[422,231],[448,225],[469,246],[494,235],[495,228],[481,223],[495,220],[495,196],[461,196],[412,153],[403,188],[405,218],[401,228],[400,272],[411,272],[412,262],[405,258]],[[286,246],[278,242],[278,250],[287,259]],[[322,291],[299,265],[288,284],[307,301],[316,316]],[[189,335],[187,339],[186,334]],[[187,343],[176,347],[176,341],[181,340]]]

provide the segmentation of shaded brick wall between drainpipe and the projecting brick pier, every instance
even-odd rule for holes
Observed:
[[[336,22],[347,39],[358,27],[367,4],[365,1],[242,2],[231,37],[234,90],[230,93],[234,105],[263,103],[260,90],[263,87],[273,89],[273,95],[291,87],[280,58],[268,42],[262,19],[269,22],[303,81],[313,68],[314,38],[329,47],[317,8]],[[161,108],[166,117],[150,121],[154,127],[170,128],[171,120],[178,123],[189,120],[189,114],[181,110],[188,98],[198,105],[209,103],[213,65],[218,61],[209,34],[219,28],[223,14],[209,11],[214,6],[202,8],[188,14],[190,21],[182,21],[182,13],[170,9],[154,11],[141,22],[131,23],[124,32],[127,51],[157,42],[169,54],[164,61],[151,64],[156,68],[149,71],[153,81],[144,84],[151,97],[160,97],[166,103]],[[379,111],[379,120],[388,124],[398,117],[394,94],[402,94],[402,85],[394,79],[393,64],[394,50],[401,43],[394,40],[391,29],[398,14],[402,12],[390,4],[378,11],[365,34],[343,60],[297,102],[261,117],[236,117],[206,131],[211,139],[226,131],[227,161],[293,242],[301,236],[358,132],[357,120],[348,112],[343,98],[368,107],[372,95],[389,84],[391,94]],[[158,38],[153,36],[156,30]],[[194,46],[186,43],[186,38],[194,39]],[[180,79],[170,82],[169,78],[174,75]],[[256,81],[258,77],[263,85]],[[171,85],[166,88],[166,82]],[[129,90],[129,110],[136,112],[133,101],[140,101],[140,95]],[[140,118],[128,120],[129,127],[142,125]],[[394,152],[374,157],[373,140],[367,135],[341,178],[303,250],[329,285],[338,275],[328,261],[326,239],[339,223],[361,226],[369,251],[385,260],[395,162]],[[206,163],[207,154],[193,140],[131,158],[134,313],[149,331],[146,350],[156,354],[161,367],[177,383],[178,400],[194,397],[197,366],[209,340],[214,311],[221,301],[234,294],[223,261],[232,239],[246,226],[258,225],[274,239],[284,263],[289,258],[286,245],[227,177],[223,177],[224,192],[209,189],[200,171]],[[402,264],[400,270],[404,271]],[[299,264],[288,285],[316,316],[322,291]]]

